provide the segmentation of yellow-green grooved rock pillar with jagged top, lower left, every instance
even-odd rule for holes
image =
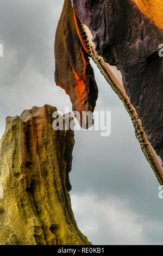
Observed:
[[[89,245],[71,209],[73,131],[54,131],[55,107],[8,117],[0,145],[0,244]]]

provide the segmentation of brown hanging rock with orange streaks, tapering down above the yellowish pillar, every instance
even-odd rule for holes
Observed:
[[[83,41],[82,23],[65,0],[55,34],[55,82],[70,96],[73,111],[93,112],[98,88]],[[82,126],[81,120],[78,119]]]

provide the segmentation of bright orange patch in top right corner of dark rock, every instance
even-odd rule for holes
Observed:
[[[155,25],[163,29],[163,0],[131,0],[141,12],[153,21]]]

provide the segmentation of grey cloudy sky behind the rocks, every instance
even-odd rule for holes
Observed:
[[[5,117],[23,109],[70,106],[54,84],[54,34],[63,0],[0,0],[0,135]],[[135,138],[131,120],[94,64],[97,111],[111,111],[111,136],[76,131],[70,174],[80,230],[98,245],[163,244],[159,183]]]

